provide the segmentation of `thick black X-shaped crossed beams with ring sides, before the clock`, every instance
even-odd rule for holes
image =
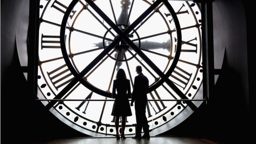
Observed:
[[[66,13],[64,14],[62,24],[61,24],[61,30],[60,30],[60,41],[61,41],[61,51],[63,56],[67,56],[67,51],[66,51],[66,45],[65,45],[65,29],[66,29],[66,23],[67,19],[73,9],[73,7],[76,5],[76,3],[79,0],[73,0],[70,3],[70,6],[67,8]],[[102,10],[92,1],[92,0],[85,0],[103,19],[108,25],[115,30],[115,32],[118,34],[116,38],[111,42],[110,45],[108,45],[92,62],[89,63],[88,66],[86,66],[80,73],[74,72],[72,70],[72,74],[74,75],[74,79],[67,84],[65,88],[61,90],[60,93],[58,93],[54,99],[61,99],[72,87],[75,86],[76,83],[79,81],[82,82],[84,81],[83,77],[98,63],[104,56],[106,56],[121,40],[124,40],[162,79],[162,81],[166,82],[182,99],[188,99],[185,94],[182,93],[181,90],[179,90],[178,87],[175,86],[175,84],[168,78],[168,74],[164,74],[129,38],[128,34],[138,25],[141,23],[143,19],[145,19],[161,2],[165,4],[166,7],[170,10],[170,13],[172,14],[172,17],[175,21],[175,26],[176,26],[176,32],[177,32],[177,43],[180,46],[177,47],[175,57],[176,59],[173,61],[173,66],[171,66],[170,72],[173,72],[175,66],[177,65],[178,58],[180,55],[181,51],[181,30],[180,30],[180,25],[178,22],[177,15],[175,15],[174,10],[170,6],[170,4],[167,2],[167,0],[157,0],[155,1],[145,12],[143,12],[140,17],[138,17],[127,29],[124,31],[120,30],[118,26],[112,22],[112,20],[104,13]],[[178,57],[178,58],[177,58]],[[68,64],[70,63],[70,60],[65,58],[65,62]],[[188,106],[192,109],[195,110],[197,107],[192,103],[191,101],[185,101]],[[56,104],[56,100],[50,101],[47,105],[47,109],[51,109],[54,104]]]

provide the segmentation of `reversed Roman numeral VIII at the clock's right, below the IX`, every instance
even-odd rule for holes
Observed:
[[[175,69],[174,69],[173,73],[177,74],[178,76],[171,74],[170,77],[172,77],[176,80],[176,81],[174,81],[174,79],[171,79],[171,81],[174,84],[178,85],[179,87],[183,88],[183,90],[184,90],[186,88],[186,86],[188,85],[188,82],[190,81],[192,73],[188,73],[178,66],[176,66]],[[178,72],[177,70],[179,70],[180,72]],[[179,81],[181,84],[178,84],[177,81]]]

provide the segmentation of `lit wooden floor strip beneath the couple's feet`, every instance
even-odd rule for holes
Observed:
[[[143,143],[143,144],[190,144],[190,143],[196,143],[196,144],[205,144],[205,143],[220,143],[220,142],[214,142],[207,140],[205,138],[191,138],[191,137],[151,137],[150,140],[142,139],[142,140],[136,140],[132,138],[126,138],[124,140],[116,140],[116,138],[68,138],[68,139],[56,139],[56,140],[46,140],[42,142],[36,142],[36,143],[75,143],[75,144],[124,144],[124,143]]]

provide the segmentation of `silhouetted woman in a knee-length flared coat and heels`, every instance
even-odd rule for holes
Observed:
[[[116,94],[117,91],[117,94]],[[115,98],[111,115],[116,116],[115,127],[116,127],[116,139],[120,139],[119,136],[119,118],[122,117],[122,134],[124,136],[125,120],[126,116],[131,116],[131,107],[128,98],[131,98],[131,86],[130,80],[126,78],[125,71],[119,69],[116,73],[116,79],[113,82],[112,98]]]

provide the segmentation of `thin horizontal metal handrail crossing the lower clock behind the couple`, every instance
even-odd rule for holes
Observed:
[[[115,101],[114,99],[35,99],[38,101]],[[129,99],[131,101],[131,99]],[[147,101],[207,101],[207,99],[148,99]]]

